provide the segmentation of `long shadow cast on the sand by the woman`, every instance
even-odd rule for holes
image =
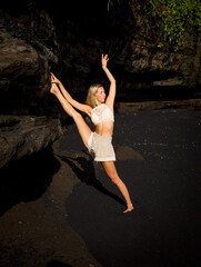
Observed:
[[[123,201],[119,196],[105,189],[100,180],[96,177],[96,170],[93,166],[93,158],[86,151],[83,151],[83,156],[70,157],[70,156],[59,156],[58,157],[67,162],[76,176],[88,186],[94,187],[101,194],[104,194],[108,197],[113,198],[115,201],[120,202],[123,206],[125,201]]]

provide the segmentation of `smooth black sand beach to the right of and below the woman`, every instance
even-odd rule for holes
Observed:
[[[135,206],[129,215],[100,165],[77,159],[84,182],[67,199],[69,220],[103,266],[201,266],[200,127],[194,111],[115,116],[115,165]]]

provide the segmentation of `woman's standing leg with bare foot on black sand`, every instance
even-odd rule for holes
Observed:
[[[112,182],[117,185],[117,187],[120,189],[121,194],[123,195],[125,201],[127,201],[127,209],[123,211],[124,214],[128,211],[131,211],[133,209],[129,191],[124,185],[124,182],[119,178],[119,175],[117,172],[115,166],[113,161],[104,161],[102,162],[102,166],[107,172],[107,175],[110,177]]]

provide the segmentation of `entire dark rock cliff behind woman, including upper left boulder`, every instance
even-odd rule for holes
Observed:
[[[140,0],[117,1],[110,11],[107,3],[108,0],[1,3],[1,115],[61,113],[49,93],[50,71],[73,97],[84,101],[92,82],[108,85],[100,66],[101,53],[110,56],[109,68],[118,81],[117,100],[200,97],[201,37],[195,29],[188,29],[184,47],[178,52],[153,49],[152,29]],[[54,123],[58,132],[49,144],[61,135],[58,121]]]

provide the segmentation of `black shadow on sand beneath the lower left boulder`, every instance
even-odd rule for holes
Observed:
[[[0,216],[20,201],[40,198],[60,168],[52,149],[47,148],[17,160],[0,170]]]

